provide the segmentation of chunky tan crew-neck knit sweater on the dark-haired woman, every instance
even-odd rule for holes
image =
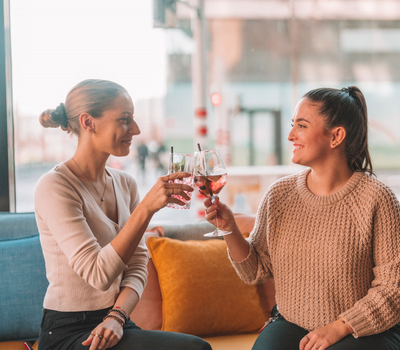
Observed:
[[[309,171],[268,188],[249,254],[232,264],[249,284],[273,277],[279,312],[305,329],[343,316],[355,337],[382,332],[400,321],[399,202],[362,172],[316,196],[306,186]]]

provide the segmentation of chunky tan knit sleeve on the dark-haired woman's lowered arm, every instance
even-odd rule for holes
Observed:
[[[340,315],[354,336],[382,332],[400,321],[400,205],[390,188],[379,184],[373,216],[373,280],[367,294]]]

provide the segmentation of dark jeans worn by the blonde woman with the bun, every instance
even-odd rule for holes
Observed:
[[[111,307],[95,311],[61,312],[43,309],[38,350],[88,349],[83,346],[90,332],[102,322]],[[189,334],[158,330],[143,330],[128,320],[122,338],[111,347],[126,349],[211,350],[203,339]]]

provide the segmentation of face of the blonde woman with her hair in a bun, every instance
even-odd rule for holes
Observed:
[[[115,156],[129,154],[133,135],[140,133],[133,114],[132,99],[127,92],[122,92],[100,118],[93,120],[96,146],[100,151]]]

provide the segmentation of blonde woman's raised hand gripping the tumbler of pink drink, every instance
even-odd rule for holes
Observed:
[[[172,197],[172,194],[180,195],[186,200],[190,200],[190,197],[184,191],[192,192],[193,187],[184,183],[173,183],[169,181],[173,181],[176,178],[189,176],[191,176],[191,173],[189,172],[178,171],[169,175],[158,177],[155,184],[144,196],[142,203],[146,204],[149,211],[152,213],[163,208],[168,203],[184,205],[183,201],[179,200],[178,198]]]

